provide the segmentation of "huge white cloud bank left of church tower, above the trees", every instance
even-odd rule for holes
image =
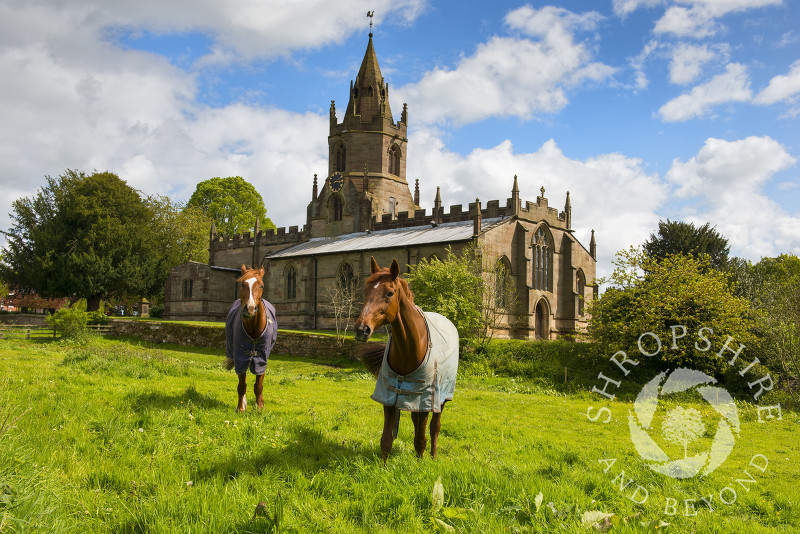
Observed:
[[[93,17],[85,7],[0,6],[4,203],[67,168],[110,170],[148,194],[184,199],[200,180],[241,175],[278,224],[303,224],[297,206],[327,168],[327,114],[199,106],[191,73],[104,41]]]

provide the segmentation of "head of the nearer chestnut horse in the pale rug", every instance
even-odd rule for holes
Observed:
[[[397,260],[381,269],[372,258],[372,275],[364,285],[364,308],[354,326],[356,339],[366,341],[381,326],[391,323],[400,309],[400,298],[410,297],[408,283],[400,278]]]

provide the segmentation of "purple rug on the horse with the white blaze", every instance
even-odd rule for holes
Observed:
[[[278,338],[278,322],[275,320],[275,308],[265,299],[264,311],[267,314],[267,326],[257,339],[251,338],[242,324],[242,303],[234,301],[225,320],[225,355],[233,360],[236,374],[250,372],[263,375],[267,370],[267,359],[275,340]]]

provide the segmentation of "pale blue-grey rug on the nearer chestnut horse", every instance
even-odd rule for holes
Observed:
[[[406,412],[438,413],[446,401],[453,400],[456,389],[458,331],[438,313],[422,312],[422,316],[428,328],[428,352],[422,364],[405,376],[392,371],[388,362],[392,344],[389,336],[372,399]]]

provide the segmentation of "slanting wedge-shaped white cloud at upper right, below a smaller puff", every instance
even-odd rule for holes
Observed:
[[[679,122],[706,115],[714,106],[728,102],[747,102],[752,98],[747,68],[729,63],[724,74],[674,98],[658,110],[666,122]]]

